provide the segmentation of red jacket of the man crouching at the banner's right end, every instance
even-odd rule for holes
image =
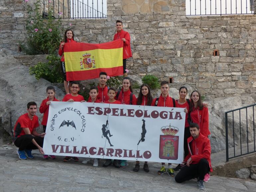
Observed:
[[[188,159],[191,157],[191,164],[197,164],[201,158],[205,158],[209,163],[210,172],[212,172],[210,140],[199,133],[198,138],[194,139],[192,136],[190,136],[187,142],[189,154],[185,157],[184,161],[188,161]]]

